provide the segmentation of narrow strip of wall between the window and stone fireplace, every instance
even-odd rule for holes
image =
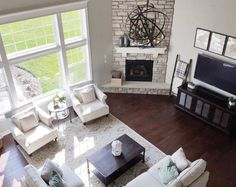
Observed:
[[[110,80],[112,69],[111,0],[90,0],[88,18],[93,78],[101,85]]]

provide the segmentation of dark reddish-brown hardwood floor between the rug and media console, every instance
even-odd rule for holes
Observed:
[[[203,158],[209,187],[235,187],[236,138],[174,107],[168,96],[108,94],[111,113],[166,154],[183,147],[194,161]]]

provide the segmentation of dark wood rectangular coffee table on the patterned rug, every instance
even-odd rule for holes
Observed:
[[[140,160],[145,161],[145,148],[124,134],[117,138],[122,142],[122,154],[115,157],[111,153],[111,143],[96,151],[87,158],[89,164],[94,166],[92,171],[105,185],[108,185]]]

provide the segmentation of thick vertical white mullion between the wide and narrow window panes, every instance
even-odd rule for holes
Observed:
[[[60,63],[61,63],[61,73],[63,77],[63,86],[65,89],[69,89],[69,70],[67,66],[67,57],[66,57],[66,45],[64,39],[64,32],[62,26],[62,18],[61,14],[56,14],[54,19],[54,26],[56,32],[56,42],[60,47],[59,55],[60,55]]]

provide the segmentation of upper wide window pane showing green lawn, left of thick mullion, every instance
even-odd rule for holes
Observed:
[[[55,43],[52,16],[0,26],[7,54]]]

